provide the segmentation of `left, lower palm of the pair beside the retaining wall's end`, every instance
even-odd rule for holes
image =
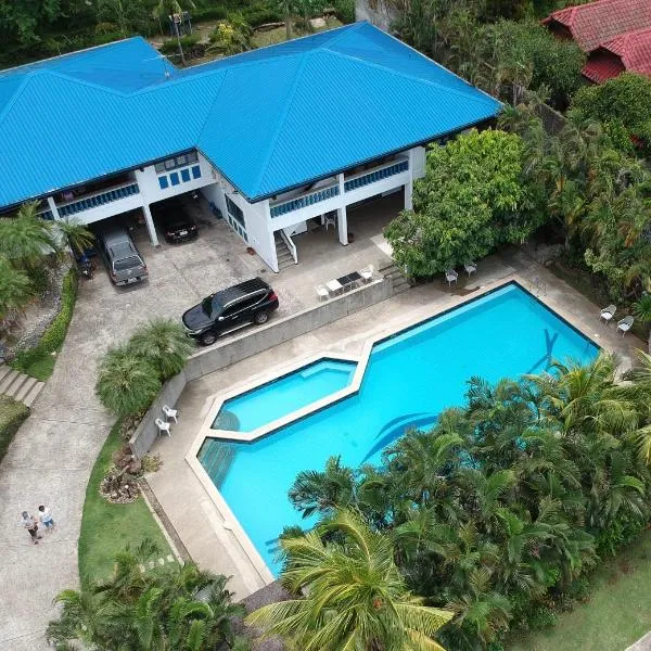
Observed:
[[[146,409],[159,388],[158,369],[127,346],[110,348],[100,362],[95,393],[117,416]]]

